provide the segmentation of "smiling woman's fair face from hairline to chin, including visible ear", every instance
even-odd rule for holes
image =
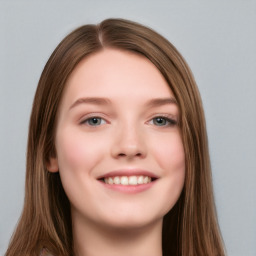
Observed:
[[[59,107],[56,158],[73,221],[139,227],[173,207],[184,184],[179,109],[145,57],[104,49],[70,75]]]

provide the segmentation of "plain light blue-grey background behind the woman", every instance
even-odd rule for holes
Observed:
[[[188,61],[202,94],[230,256],[256,255],[256,1],[0,1],[0,255],[20,215],[28,120],[44,64],[72,29],[146,24]]]

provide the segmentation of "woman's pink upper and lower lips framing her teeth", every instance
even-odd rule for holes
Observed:
[[[153,179],[150,183],[146,184],[139,184],[139,185],[117,185],[117,184],[106,184],[104,181],[102,181],[104,178],[108,177],[114,177],[114,176],[149,176]],[[122,169],[122,170],[115,170],[108,172],[104,175],[101,175],[97,178],[97,180],[106,188],[115,190],[122,193],[128,193],[128,194],[135,194],[140,193],[145,190],[150,189],[157,181],[159,176],[155,175],[152,172],[141,170],[141,169]]]

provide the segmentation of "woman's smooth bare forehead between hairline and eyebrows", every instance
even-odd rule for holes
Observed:
[[[146,57],[103,49],[82,60],[67,81],[64,101],[85,96],[143,100],[173,94],[160,71]]]

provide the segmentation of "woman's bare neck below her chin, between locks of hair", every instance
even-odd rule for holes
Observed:
[[[144,227],[113,228],[73,219],[76,256],[161,256],[162,220]]]

